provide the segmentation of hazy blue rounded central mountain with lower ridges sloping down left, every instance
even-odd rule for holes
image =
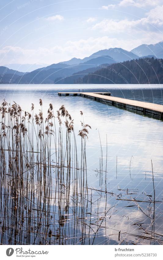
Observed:
[[[72,78],[74,81],[77,78],[75,74],[78,74],[79,72],[80,78],[82,78],[85,74],[94,72],[97,69],[98,64],[109,65],[117,62],[128,61],[135,58],[139,57],[133,54],[132,52],[125,51],[121,48],[110,48],[95,52],[89,57],[85,57],[83,59],[72,58],[71,60],[67,61],[68,64],[66,64],[65,62],[51,64],[49,66],[38,68],[37,70],[33,70],[25,74],[11,71],[10,77],[12,78],[12,73],[15,73],[14,77],[12,78],[12,80],[10,80],[8,76],[3,77],[3,83],[11,82],[17,84],[53,84],[56,81],[58,81],[58,79],[61,81],[61,79],[67,78],[71,75],[73,75]],[[88,69],[91,70],[89,70],[88,72],[86,71]],[[82,72],[83,70],[85,70],[85,72]]]

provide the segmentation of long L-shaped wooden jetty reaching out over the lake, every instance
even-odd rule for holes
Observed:
[[[83,96],[142,115],[163,119],[163,105],[113,97],[110,92],[58,92],[59,96]]]

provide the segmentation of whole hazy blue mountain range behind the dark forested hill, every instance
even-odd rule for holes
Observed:
[[[0,83],[13,84],[74,84],[82,83],[83,77],[99,71],[99,65],[112,65],[136,59],[163,58],[163,42],[140,45],[132,51],[122,48],[109,48],[97,51],[85,57],[72,58],[69,61],[41,66],[41,64],[9,64],[0,66]],[[36,68],[32,71],[31,68]],[[40,67],[41,66],[41,67]],[[15,70],[11,69],[15,68]],[[21,68],[23,72],[20,72]],[[25,69],[26,68],[26,69]],[[24,72],[25,71],[25,72]]]

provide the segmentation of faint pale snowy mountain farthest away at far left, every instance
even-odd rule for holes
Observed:
[[[42,67],[48,66],[48,64],[40,64],[40,63],[35,63],[35,64],[20,64],[20,63],[15,63],[15,64],[6,64],[6,67],[12,70],[18,70],[18,71],[23,71],[23,72],[31,72],[33,70],[37,70]]]

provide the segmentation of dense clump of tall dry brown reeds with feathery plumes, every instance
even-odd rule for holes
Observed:
[[[50,104],[44,119],[41,99],[39,104],[37,114],[34,104],[31,112],[5,100],[0,107],[1,220],[3,231],[7,231],[2,232],[2,244],[46,244],[52,237],[54,243],[56,238],[64,243],[63,226],[69,216],[70,200],[76,217],[85,212],[85,146],[87,127],[91,127],[83,125],[79,132],[82,152],[79,168],[71,115],[62,105],[55,117]],[[54,235],[52,227],[56,223]]]

